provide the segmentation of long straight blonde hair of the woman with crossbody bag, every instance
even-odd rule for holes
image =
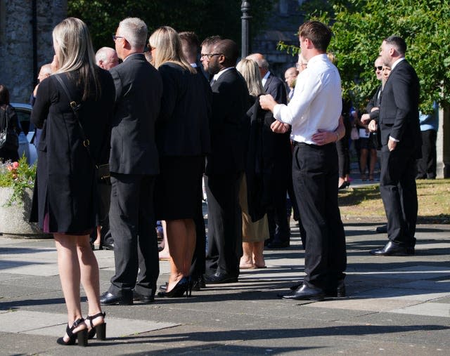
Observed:
[[[100,95],[95,53],[86,24],[79,18],[66,18],[53,29],[53,45],[59,68],[55,72],[79,70],[79,83],[84,86],[83,100],[91,93],[94,84],[96,97]]]

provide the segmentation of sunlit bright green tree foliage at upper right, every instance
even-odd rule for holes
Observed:
[[[355,105],[364,107],[379,85],[373,62],[391,34],[406,41],[406,59],[420,79],[421,109],[431,112],[433,100],[450,103],[450,0],[319,0],[302,10],[333,30],[328,49]]]

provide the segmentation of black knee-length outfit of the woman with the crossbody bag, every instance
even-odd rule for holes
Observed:
[[[62,86],[53,76],[44,79],[39,84],[31,116],[32,123],[42,128],[42,134],[30,220],[39,221],[45,232],[86,235],[96,227],[98,209],[91,157],[101,164],[108,161],[114,84],[109,72],[98,68],[101,95],[82,102],[82,87],[76,84],[77,71],[54,75],[63,79],[71,99],[81,103],[79,121],[90,140],[91,155],[82,143],[79,124]]]

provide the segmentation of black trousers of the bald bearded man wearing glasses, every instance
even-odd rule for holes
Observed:
[[[239,206],[243,173],[205,178],[208,202],[207,275],[216,272],[239,275],[242,256],[242,211]]]

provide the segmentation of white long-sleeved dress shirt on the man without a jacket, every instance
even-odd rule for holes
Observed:
[[[315,55],[297,77],[288,105],[274,107],[274,117],[292,126],[290,138],[309,145],[319,131],[335,131],[342,112],[340,76],[326,54]]]

